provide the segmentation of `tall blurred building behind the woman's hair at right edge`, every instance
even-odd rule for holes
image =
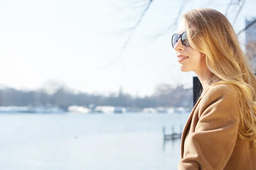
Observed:
[[[248,26],[256,17],[245,20],[245,26]],[[256,68],[256,23],[245,30],[245,48],[246,55],[250,58],[251,65]]]

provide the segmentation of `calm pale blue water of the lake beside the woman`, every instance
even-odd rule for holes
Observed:
[[[189,114],[0,114],[1,170],[176,170]]]

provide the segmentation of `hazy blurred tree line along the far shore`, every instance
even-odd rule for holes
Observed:
[[[84,92],[73,92],[64,86],[58,87],[52,94],[45,90],[23,91],[15,88],[0,89],[0,106],[32,106],[47,107],[58,106],[64,110],[70,105],[108,105],[127,108],[149,108],[149,107],[192,107],[192,88],[168,88],[158,89],[151,96],[134,97],[125,94],[120,88],[119,94],[108,96],[99,94],[88,94]]]

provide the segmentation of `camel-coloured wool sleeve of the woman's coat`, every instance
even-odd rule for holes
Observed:
[[[189,132],[179,170],[224,169],[239,130],[238,92],[227,85],[211,87],[201,99],[195,132]]]

